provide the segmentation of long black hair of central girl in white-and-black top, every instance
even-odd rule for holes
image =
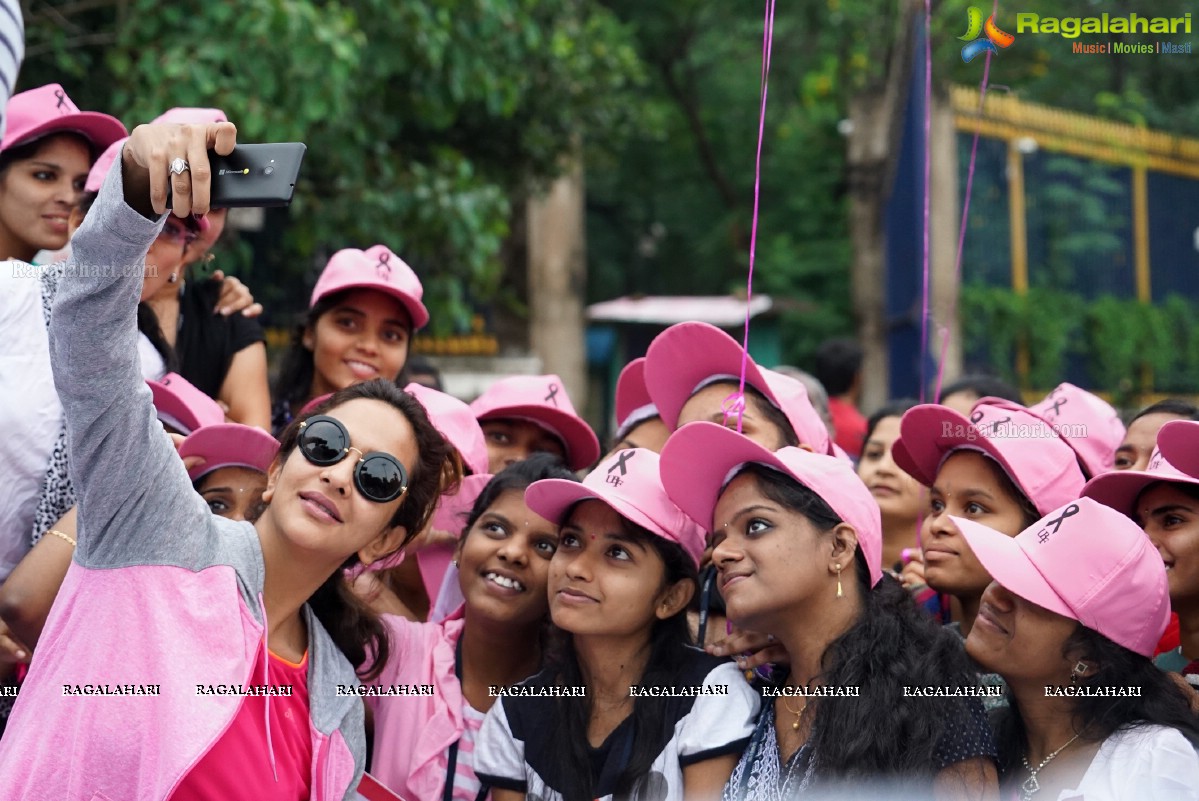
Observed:
[[[570,514],[562,519],[570,519]],[[652,549],[662,559],[663,589],[681,580],[695,582],[695,562],[681,546],[643,529],[621,517],[623,532]],[[665,687],[677,683],[677,677],[688,662],[697,656],[687,646],[692,644],[687,626],[687,610],[656,620],[650,633],[650,658],[645,673],[637,682],[645,687]],[[568,632],[553,630],[546,669],[550,683],[579,687],[586,682],[574,651],[574,638]],[[674,722],[665,713],[669,698],[639,697],[633,699],[633,746],[631,757],[616,781],[615,796],[631,795],[639,782],[650,775],[655,758],[674,735]],[[559,765],[577,765],[578,770],[564,771],[566,785],[554,788],[564,801],[591,801],[596,797],[595,782],[588,767],[591,764],[588,741],[588,723],[591,719],[591,698],[554,699],[554,736],[549,737],[549,760]]]

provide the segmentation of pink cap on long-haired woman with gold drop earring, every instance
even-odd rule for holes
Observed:
[[[857,532],[857,547],[870,571],[870,586],[882,578],[882,520],[879,505],[845,459],[802,447],[770,451],[730,428],[705,421],[687,423],[662,448],[667,494],[705,531],[713,528],[716,501],[747,464],[777,470],[819,495]]]

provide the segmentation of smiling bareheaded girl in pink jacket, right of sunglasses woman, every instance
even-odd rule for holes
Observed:
[[[546,583],[558,525],[531,511],[524,492],[546,478],[574,481],[548,454],[518,462],[475,500],[454,559],[464,604],[447,620],[382,621],[396,645],[379,685],[433,685],[435,694],[367,697],[374,713],[370,773],[408,801],[476,801],[475,752],[490,685],[525,679],[541,667],[549,603]]]

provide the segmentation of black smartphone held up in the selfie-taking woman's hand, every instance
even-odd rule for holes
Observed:
[[[300,164],[308,146],[302,141],[237,145],[228,156],[209,151],[213,209],[285,206],[291,203]]]

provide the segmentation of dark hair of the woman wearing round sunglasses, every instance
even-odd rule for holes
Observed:
[[[458,482],[457,463],[450,457],[451,447],[438,429],[429,422],[424,406],[412,396],[384,379],[355,384],[321,402],[312,415],[335,412],[337,406],[359,398],[381,401],[399,410],[412,426],[418,458],[408,477],[408,495],[392,516],[390,526],[402,525],[408,536],[399,548],[424,529],[436,510],[438,496],[453,488]],[[309,416],[312,416],[309,415]],[[291,457],[300,436],[301,418],[289,424],[279,436],[279,463]],[[301,457],[302,458],[302,457]],[[397,548],[397,550],[399,550]],[[394,553],[394,552],[392,552]],[[387,554],[382,554],[386,556]],[[359,564],[357,554],[351,554],[342,568]],[[351,664],[361,666],[359,676],[363,681],[376,679],[387,663],[391,648],[386,630],[379,621],[379,615],[360,601],[350,590],[349,582],[342,571],[335,571],[324,584],[308,598],[308,606],[320,624],[329,632],[333,643],[345,654]],[[367,662],[368,655],[372,656]]]

